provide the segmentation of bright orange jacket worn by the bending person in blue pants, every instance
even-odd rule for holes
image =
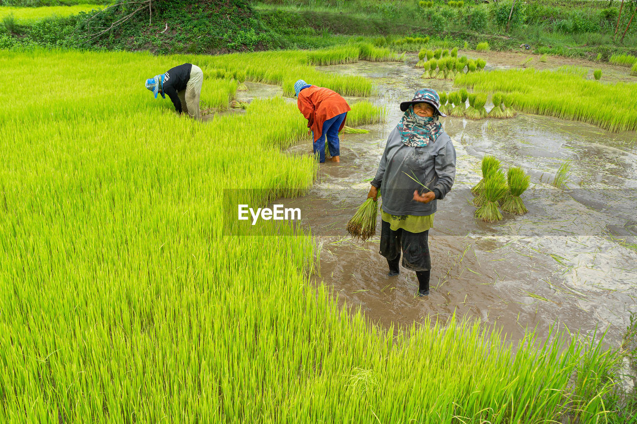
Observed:
[[[297,105],[303,116],[308,120],[308,128],[314,132],[314,141],[320,138],[323,131],[323,123],[326,120],[352,110],[347,101],[338,93],[329,88],[317,87],[316,85],[303,88],[299,92]],[[347,118],[347,115],[345,115],[345,118]],[[343,119],[338,131],[341,131],[344,126],[345,119]]]

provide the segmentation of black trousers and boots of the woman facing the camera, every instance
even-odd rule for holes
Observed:
[[[397,274],[400,271],[400,253],[403,251],[403,267],[416,271],[419,290],[429,290],[431,274],[431,256],[429,256],[429,230],[409,232],[403,229],[396,231],[390,228],[389,222],[381,221],[380,254],[387,258],[389,271]]]

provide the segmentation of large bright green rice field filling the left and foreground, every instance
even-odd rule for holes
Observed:
[[[455,321],[394,336],[310,283],[309,234],[236,236],[227,189],[262,206],[315,180],[282,153],[306,123],[282,97],[180,117],[143,83],[182,62],[207,76],[202,108],[229,107],[222,72],[373,88],[306,52],[0,51],[1,422],[605,422],[601,345]]]

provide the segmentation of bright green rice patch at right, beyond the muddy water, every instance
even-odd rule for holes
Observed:
[[[599,84],[570,72],[510,69],[489,73],[466,73],[454,85],[482,92],[506,93],[515,109],[568,120],[588,122],[612,132],[637,130],[637,85]],[[612,107],[590,108],[590,104]]]

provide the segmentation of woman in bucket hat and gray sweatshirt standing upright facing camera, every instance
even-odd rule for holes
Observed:
[[[389,276],[403,267],[416,271],[418,294],[429,295],[429,228],[436,201],[444,199],[455,178],[455,148],[438,117],[440,97],[422,88],[412,101],[401,102],[404,112],[389,134],[368,197],[382,194],[380,254],[387,258]]]

